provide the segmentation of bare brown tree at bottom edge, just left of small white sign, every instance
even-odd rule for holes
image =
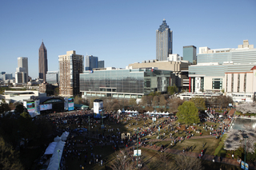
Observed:
[[[115,152],[114,160],[111,162],[113,170],[131,170],[133,169],[132,160],[125,150]]]

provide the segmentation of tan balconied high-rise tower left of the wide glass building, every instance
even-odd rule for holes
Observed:
[[[60,96],[74,97],[80,94],[79,73],[83,73],[83,62],[83,55],[76,54],[74,50],[58,56]]]

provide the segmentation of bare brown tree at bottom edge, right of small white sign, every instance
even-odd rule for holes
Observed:
[[[179,156],[175,156],[174,160],[176,164],[181,169],[193,169],[193,170],[202,170],[202,162],[198,158],[186,156],[186,154],[182,154]]]

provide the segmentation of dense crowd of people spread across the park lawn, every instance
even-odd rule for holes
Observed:
[[[46,115],[46,119],[52,121],[58,128],[58,132],[70,132],[70,136],[66,140],[63,160],[82,160],[81,168],[86,168],[92,164],[101,166],[106,164],[106,158],[101,154],[94,152],[95,146],[106,147],[111,146],[113,151],[119,147],[134,148],[137,144],[146,144],[146,138],[156,135],[156,138],[165,140],[170,136],[170,148],[175,144],[182,143],[183,140],[188,140],[194,136],[196,132],[202,135],[201,129],[196,125],[180,125],[176,122],[177,117],[162,117],[158,121],[148,121],[151,119],[149,115],[138,114],[135,117],[129,117],[127,114],[106,113],[104,126],[101,119],[94,119],[93,113],[86,110],[71,111],[66,113],[51,113]],[[160,117],[158,117],[160,118]],[[132,121],[134,120],[134,121]],[[138,127],[138,121],[144,121],[142,127]],[[220,122],[218,117],[207,120],[211,122]],[[119,125],[119,126],[118,126]],[[129,136],[126,132],[121,132],[119,127],[123,125],[128,129]],[[112,126],[112,127],[111,127]],[[223,128],[226,129],[228,123],[223,122]],[[80,130],[78,130],[78,128]],[[81,129],[86,129],[81,131]],[[207,122],[202,124],[202,128],[210,135],[220,136],[222,130],[216,125],[207,125]],[[89,130],[90,129],[90,130]],[[125,136],[122,135],[125,134]],[[142,140],[142,138],[144,140]],[[149,143],[152,145],[152,142]],[[164,151],[165,146],[162,145],[160,151]]]

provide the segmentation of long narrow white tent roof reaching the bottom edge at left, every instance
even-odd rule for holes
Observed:
[[[59,141],[54,148],[53,156],[50,158],[50,163],[47,170],[58,170],[59,164],[62,160],[62,152],[65,142]]]

